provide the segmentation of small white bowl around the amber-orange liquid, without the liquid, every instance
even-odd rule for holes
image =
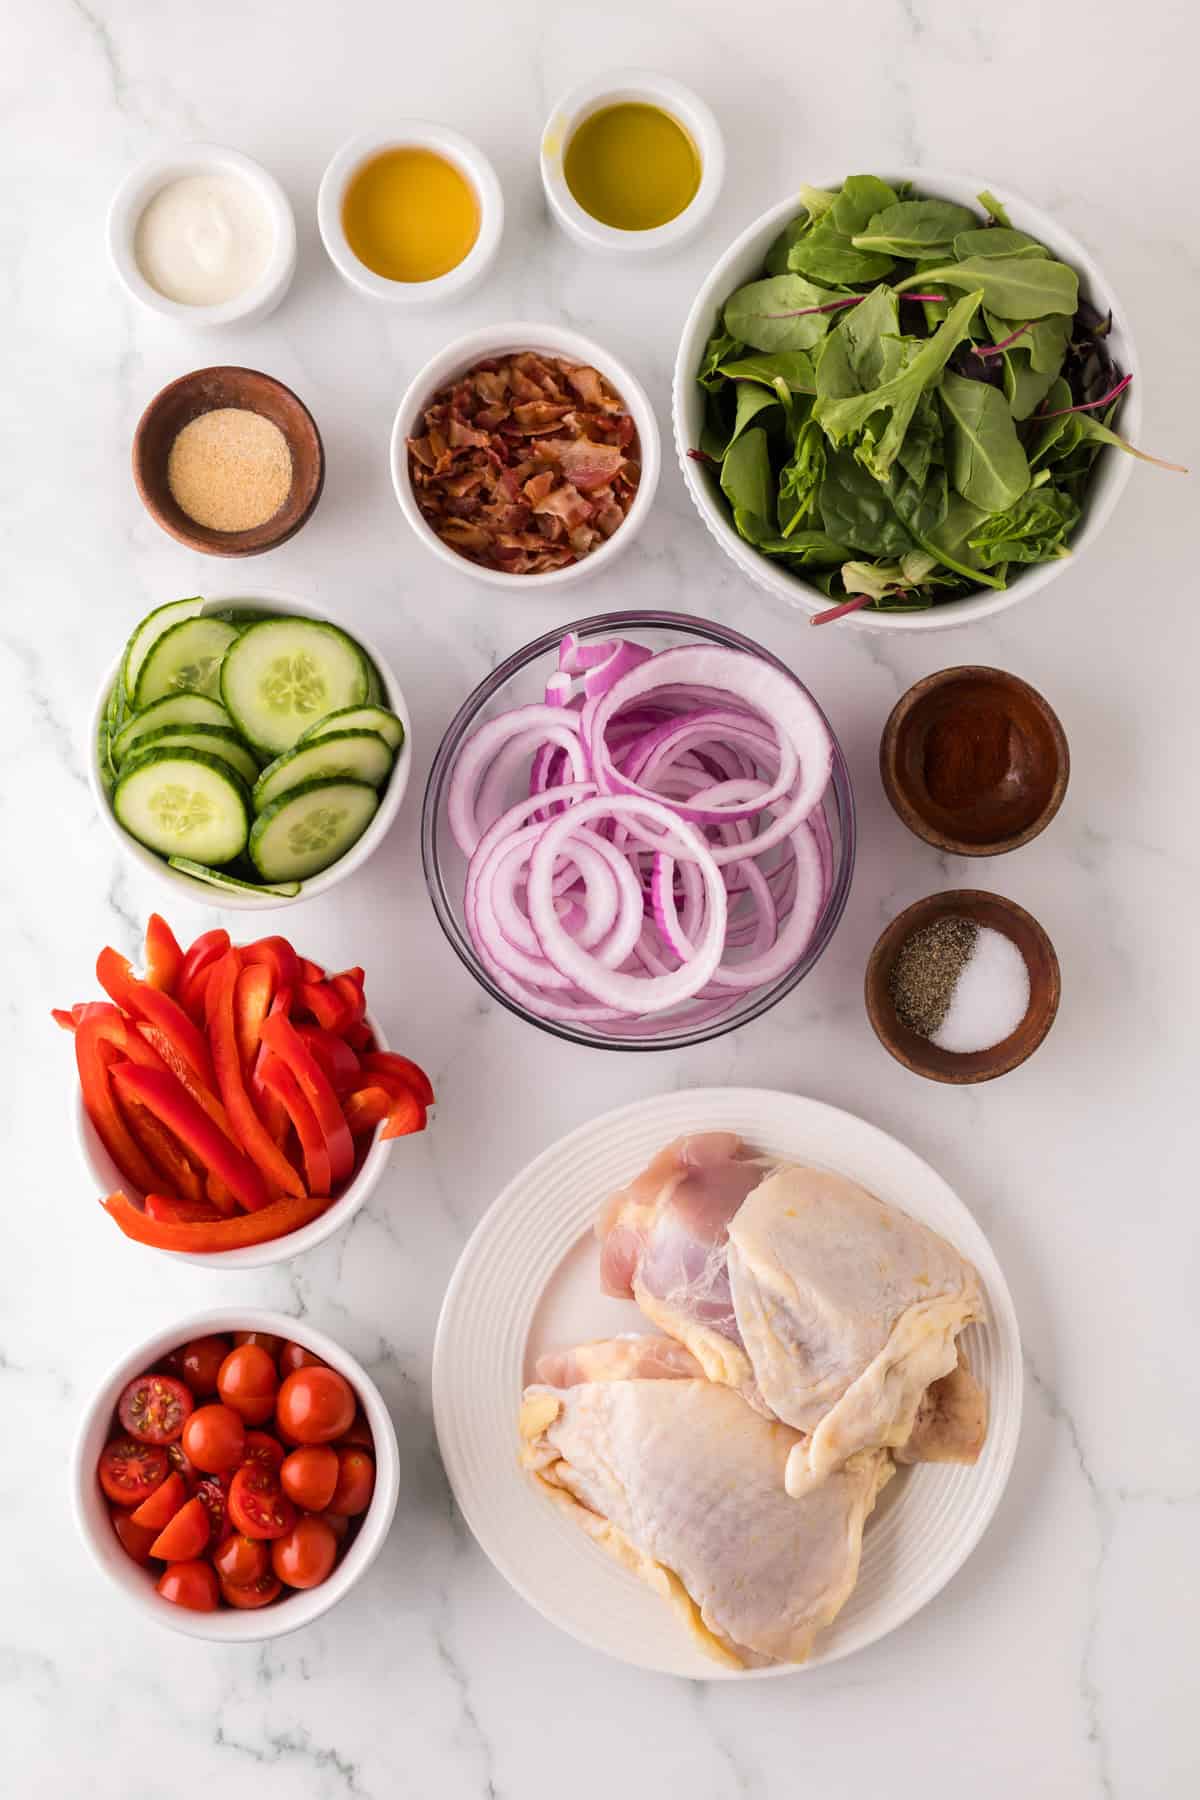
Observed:
[[[345,238],[342,203],[351,176],[385,149],[432,149],[452,162],[475,193],[479,238],[455,268],[434,281],[390,281],[376,275],[358,261]],[[320,180],[317,225],[329,261],[356,293],[387,306],[439,306],[443,301],[462,299],[491,268],[504,232],[504,194],[488,157],[461,131],[428,119],[401,119],[392,131],[365,131],[342,144]]]

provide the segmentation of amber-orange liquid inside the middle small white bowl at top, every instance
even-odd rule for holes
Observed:
[[[354,173],[342,202],[345,239],[387,281],[435,281],[479,238],[475,189],[432,149],[385,149]]]

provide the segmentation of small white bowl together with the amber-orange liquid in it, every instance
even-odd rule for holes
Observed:
[[[491,266],[504,194],[482,149],[448,126],[405,119],[344,144],[317,196],[329,261],[389,306],[461,299]]]

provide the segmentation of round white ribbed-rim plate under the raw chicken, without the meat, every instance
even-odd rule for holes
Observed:
[[[1020,1433],[1022,1363],[1013,1300],[982,1231],[912,1150],[851,1112],[757,1087],[700,1087],[606,1112],[560,1139],[504,1190],[453,1273],[434,1346],[434,1420],[455,1499],[480,1546],[531,1606],[572,1638],[639,1669],[748,1681],[709,1661],[664,1602],[547,1505],[518,1465],[516,1409],[534,1359],[554,1345],[649,1328],[599,1291],[592,1220],[604,1195],[662,1145],[736,1130],[756,1150],[838,1170],[941,1231],[982,1278],[990,1319],[963,1334],[988,1390],[973,1469],[918,1465],[887,1487],[867,1525],[858,1586],[804,1665],[874,1643],[932,1600],[982,1537]]]

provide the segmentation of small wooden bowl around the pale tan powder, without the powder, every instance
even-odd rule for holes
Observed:
[[[193,419],[218,407],[261,412],[277,425],[291,452],[291,488],[277,513],[250,531],[198,526],[167,486],[171,445]],[[133,481],[157,526],[205,556],[259,556],[286,544],[306,524],[326,484],[326,450],[317,421],[290,387],[257,369],[194,369],[155,394],[133,434]]]

